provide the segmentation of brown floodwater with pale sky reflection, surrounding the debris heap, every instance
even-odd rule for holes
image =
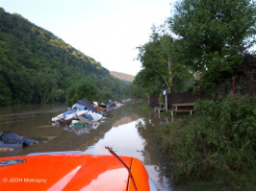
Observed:
[[[55,127],[51,118],[64,112],[64,105],[20,106],[0,108],[0,132],[15,132],[38,141],[20,151],[1,152],[0,156],[21,156],[38,152],[83,151],[92,155],[110,155],[105,146],[113,147],[118,156],[141,159],[160,190],[172,190],[165,176],[165,163],[159,152],[154,132],[168,123],[158,114],[125,105],[111,111],[110,118],[96,130],[81,132]]]

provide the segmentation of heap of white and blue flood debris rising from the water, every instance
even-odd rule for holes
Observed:
[[[53,126],[64,126],[66,131],[74,131],[77,134],[95,130],[104,122],[107,112],[120,108],[123,104],[110,100],[108,104],[90,102],[86,99],[79,100],[72,108],[67,108],[64,113],[52,118]]]

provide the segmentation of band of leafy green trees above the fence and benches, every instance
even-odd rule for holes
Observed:
[[[255,45],[255,13],[250,0],[177,1],[166,22],[153,26],[149,41],[138,47],[142,69],[135,86],[159,94],[164,87],[171,93],[200,83],[215,92],[237,77],[255,94],[256,55],[249,51]]]

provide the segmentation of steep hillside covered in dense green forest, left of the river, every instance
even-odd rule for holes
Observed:
[[[124,94],[123,84],[99,62],[0,8],[0,106],[64,102],[68,89],[81,82],[100,90],[95,99]]]

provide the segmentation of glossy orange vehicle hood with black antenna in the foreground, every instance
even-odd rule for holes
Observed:
[[[139,160],[131,156],[83,152],[36,153],[0,158],[1,190],[134,191],[157,190]]]

